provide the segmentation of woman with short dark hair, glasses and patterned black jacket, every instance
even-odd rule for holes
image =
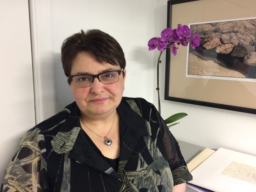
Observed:
[[[118,42],[81,31],[61,60],[75,102],[27,132],[0,191],[185,191],[192,176],[154,105],[122,97]]]

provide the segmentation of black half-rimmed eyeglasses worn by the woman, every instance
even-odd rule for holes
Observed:
[[[107,71],[97,75],[69,75],[68,79],[70,82],[74,83],[75,87],[88,87],[93,83],[94,78],[97,78],[103,84],[111,84],[116,83],[119,80],[119,75],[121,75],[122,71],[123,69]]]

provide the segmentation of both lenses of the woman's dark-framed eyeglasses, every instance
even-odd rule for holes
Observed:
[[[103,84],[115,83],[119,79],[117,71],[106,72],[99,75],[99,80]],[[93,83],[94,79],[91,75],[79,75],[73,77],[73,82],[76,87],[88,87]]]

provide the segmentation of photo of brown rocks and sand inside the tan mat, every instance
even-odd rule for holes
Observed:
[[[190,25],[201,44],[189,48],[187,75],[256,79],[256,19]]]

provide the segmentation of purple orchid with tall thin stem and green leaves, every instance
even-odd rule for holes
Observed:
[[[195,49],[200,45],[201,39],[200,36],[195,31],[193,34],[192,39],[190,40],[191,31],[188,26],[179,24],[177,29],[170,29],[166,28],[161,32],[161,37],[153,37],[148,42],[148,49],[149,51],[152,51],[154,49],[158,49],[160,51],[160,55],[158,57],[157,62],[157,88],[158,91],[158,110],[161,114],[161,106],[160,106],[160,95],[159,95],[159,63],[161,63],[160,57],[162,52],[164,52],[166,49],[171,49],[171,53],[176,56],[178,46],[188,46],[188,43],[190,43],[190,46],[192,49]],[[177,121],[183,117],[187,116],[186,113],[177,113],[174,114],[167,119],[164,120],[166,124],[173,123],[174,121]],[[174,123],[168,126],[171,127],[173,125],[176,125],[178,123]]]

